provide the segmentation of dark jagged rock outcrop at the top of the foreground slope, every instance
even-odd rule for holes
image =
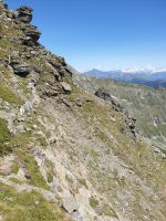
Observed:
[[[20,27],[20,33],[14,39],[13,44],[10,48],[9,56],[1,60],[2,65],[10,65],[13,70],[13,73],[20,76],[28,76],[31,74],[31,78],[39,78],[34,75],[39,75],[42,71],[39,62],[29,62],[32,57],[37,60],[45,60],[45,69],[48,70],[46,85],[43,86],[43,80],[40,81],[39,91],[41,96],[56,96],[58,94],[71,93],[72,88],[69,82],[63,82],[63,78],[69,76],[71,77],[72,72],[68,67],[63,57],[58,57],[51,52],[48,52],[39,43],[41,33],[38,31],[37,27],[31,25],[32,20],[32,9],[29,7],[21,7],[15,11],[9,11],[4,3],[1,3],[4,22],[10,18],[13,25]],[[2,35],[2,40],[6,39],[6,35]],[[11,38],[12,40],[12,38]],[[20,51],[15,51],[15,45],[22,45]],[[24,45],[24,48],[23,48]],[[32,64],[33,63],[33,64]],[[44,73],[42,73],[44,74]],[[41,74],[41,75],[42,75]],[[61,82],[61,84],[59,84]]]

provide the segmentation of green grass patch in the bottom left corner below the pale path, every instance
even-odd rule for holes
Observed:
[[[0,182],[0,213],[6,221],[69,221],[56,202],[48,202],[41,194],[18,193]]]

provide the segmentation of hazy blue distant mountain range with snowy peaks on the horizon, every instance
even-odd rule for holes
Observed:
[[[166,71],[152,70],[117,70],[117,71],[100,71],[93,69],[85,74],[97,78],[113,78],[120,82],[129,82],[143,84],[152,87],[166,87]]]

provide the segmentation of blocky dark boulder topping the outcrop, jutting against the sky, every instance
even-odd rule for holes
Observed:
[[[14,18],[23,23],[30,23],[32,20],[32,9],[29,7],[21,7],[17,9]]]

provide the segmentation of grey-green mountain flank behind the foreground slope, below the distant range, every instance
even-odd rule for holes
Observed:
[[[125,112],[136,118],[136,130],[139,130],[153,146],[166,152],[165,88],[151,88],[82,74],[75,74],[74,78],[81,87],[92,94],[102,88],[108,96],[115,97],[125,107]],[[159,150],[156,149],[156,151]]]

